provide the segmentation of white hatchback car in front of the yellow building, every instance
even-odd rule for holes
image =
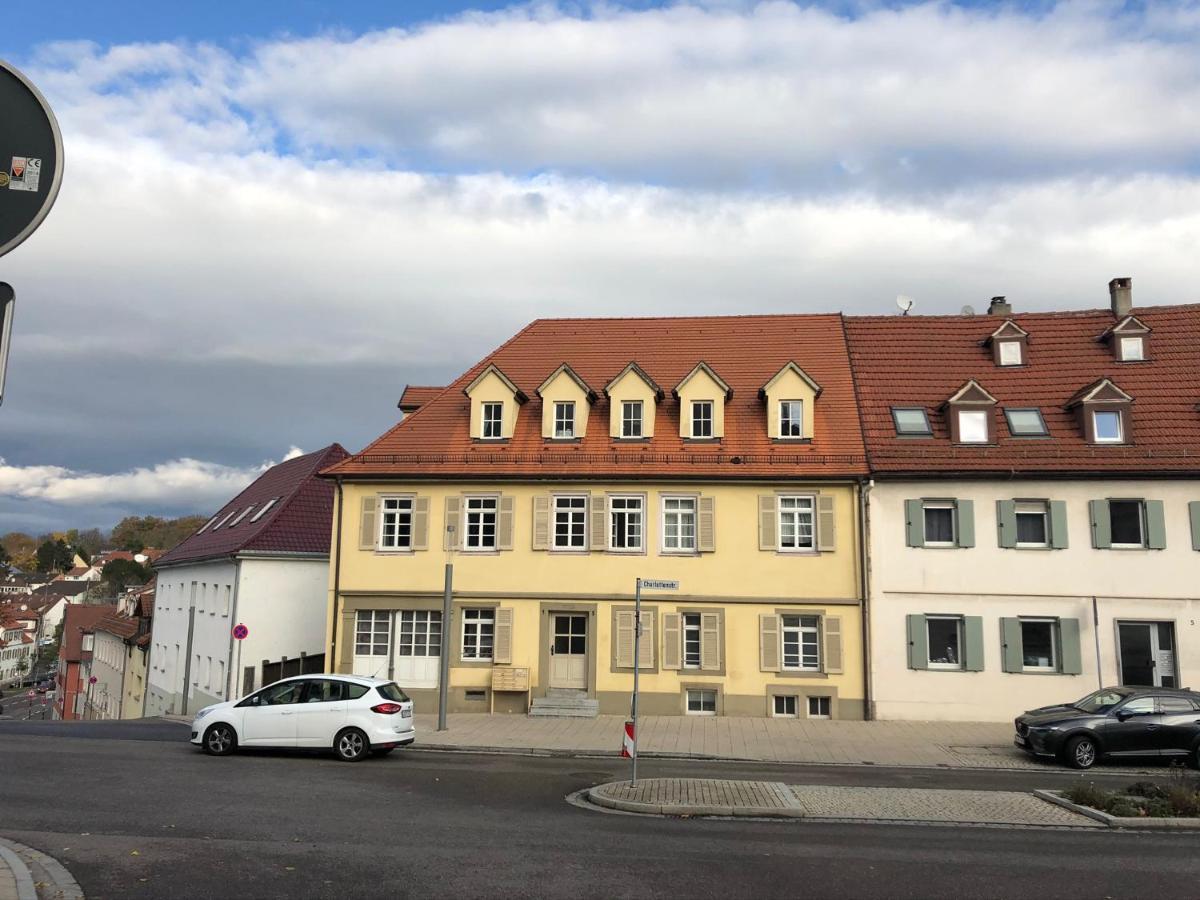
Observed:
[[[214,756],[239,746],[328,748],[358,762],[415,738],[408,695],[395,682],[359,676],[284,678],[192,720],[192,743]]]

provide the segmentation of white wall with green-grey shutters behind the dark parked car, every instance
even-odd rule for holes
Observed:
[[[1163,500],[1166,548],[1093,550],[1087,502],[1112,497]],[[976,546],[907,547],[904,502],[918,498],[974,500]],[[998,499],[1064,500],[1069,547],[1001,548]],[[1078,698],[1100,682],[1116,684],[1118,619],[1172,622],[1181,684],[1200,686],[1200,553],[1192,550],[1187,506],[1198,499],[1198,480],[876,481],[869,514],[876,716],[1004,721]],[[908,613],[983,617],[984,671],[910,670]],[[1003,672],[1000,618],[1022,616],[1079,619],[1082,673]]]

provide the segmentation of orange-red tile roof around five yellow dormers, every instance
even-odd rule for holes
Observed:
[[[670,394],[658,404],[653,440],[612,440],[602,389],[630,361],[662,385],[678,384],[698,362],[708,364],[733,390],[725,408],[724,440],[684,442],[679,437],[679,403]],[[788,361],[796,361],[822,386],[810,444],[781,444],[767,434],[758,389]],[[536,391],[563,362],[600,396],[590,408],[587,437],[576,444],[547,445],[541,437]],[[529,397],[517,416],[514,438],[503,445],[480,445],[469,434],[469,401],[463,388],[490,365]],[[326,474],[786,479],[865,472],[841,317],[803,314],[539,319]]]

